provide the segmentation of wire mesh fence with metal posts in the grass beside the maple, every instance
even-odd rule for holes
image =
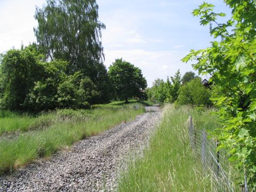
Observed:
[[[217,150],[219,141],[207,138],[205,130],[195,129],[191,115],[188,119],[188,132],[193,153],[201,159],[204,170],[210,170],[213,173],[214,191],[234,192],[235,185],[230,178],[233,167],[228,161],[227,153]],[[242,191],[248,191],[246,185]]]

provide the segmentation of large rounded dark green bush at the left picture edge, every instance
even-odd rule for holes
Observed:
[[[1,58],[0,106],[23,109],[26,95],[43,74],[42,55],[28,46],[22,50],[11,49]]]

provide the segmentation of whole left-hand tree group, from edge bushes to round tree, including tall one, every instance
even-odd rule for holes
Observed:
[[[49,0],[37,7],[38,43],[0,57],[0,108],[41,111],[86,108],[110,99],[147,99],[142,71],[122,59],[109,67],[95,0]]]

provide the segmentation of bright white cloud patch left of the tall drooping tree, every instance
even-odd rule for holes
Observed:
[[[33,27],[37,25],[34,19],[35,7],[42,6],[45,0],[13,0],[0,2],[0,53],[20,48],[21,42],[28,45],[36,41]]]

